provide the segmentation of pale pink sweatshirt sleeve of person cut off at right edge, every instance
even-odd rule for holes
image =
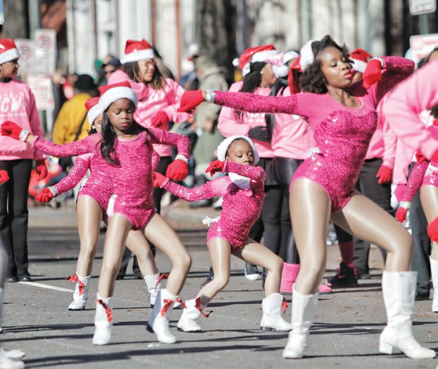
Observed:
[[[384,102],[383,112],[403,144],[426,158],[438,149],[438,142],[419,115],[438,104],[438,60],[430,61],[407,81],[400,83]]]

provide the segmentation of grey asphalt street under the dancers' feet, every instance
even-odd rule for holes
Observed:
[[[181,293],[193,298],[206,278],[204,214],[212,209],[189,209],[182,202],[165,211],[193,258],[187,283]],[[102,239],[105,233],[102,233]],[[232,259],[229,285],[208,306],[213,313],[200,318],[203,332],[178,332],[181,310],[171,316],[171,331],[177,343],[160,344],[146,331],[150,306],[145,283],[129,275],[117,281],[114,293],[114,327],[107,346],[93,346],[95,292],[102,257],[97,252],[90,299],[84,311],[67,310],[74,285],[65,280],[76,270],[78,233],[73,204],[52,209],[30,209],[30,273],[33,283],[7,283],[4,304],[4,348],[26,352],[26,368],[436,368],[438,360],[413,361],[401,354],[379,353],[379,334],[386,315],[381,296],[381,256],[372,249],[372,279],[357,288],[321,295],[311,330],[309,348],[301,360],[281,358],[288,339],[284,332],[261,332],[261,281],[248,281],[243,263]],[[338,247],[328,246],[326,276],[333,275],[340,260]],[[160,271],[170,262],[158,252]],[[131,273],[131,264],[128,272]],[[290,303],[290,295],[285,295]],[[437,314],[432,301],[415,303],[414,332],[423,345],[438,350]],[[285,314],[290,320],[290,305]]]

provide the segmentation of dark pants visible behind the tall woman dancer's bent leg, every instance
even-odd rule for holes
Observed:
[[[360,170],[359,179],[356,183],[356,188],[364,194],[368,199],[374,201],[385,211],[391,213],[391,184],[379,185],[379,179],[376,177],[377,172],[383,160],[381,158],[365,160],[362,169]],[[339,242],[348,242],[351,240],[351,235],[335,226],[336,235]],[[368,273],[368,258],[369,258],[369,242],[354,238],[354,254],[355,266],[357,274]],[[386,259],[386,252],[381,250],[381,253]]]

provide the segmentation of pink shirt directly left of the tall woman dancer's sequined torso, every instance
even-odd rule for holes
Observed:
[[[285,88],[283,96],[290,96],[290,89]],[[314,146],[312,128],[300,115],[276,114],[271,146],[273,156],[303,160],[309,148]]]

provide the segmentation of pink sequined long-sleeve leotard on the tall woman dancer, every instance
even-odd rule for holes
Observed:
[[[247,112],[280,112],[307,117],[314,130],[315,148],[295,172],[292,183],[304,177],[318,183],[331,198],[331,209],[341,209],[350,200],[369,140],[377,127],[376,108],[383,95],[413,72],[413,61],[385,57],[382,79],[369,90],[362,82],[350,92],[359,108],[342,105],[328,94],[298,93],[290,97],[265,97],[251,93],[215,91],[215,104]],[[293,122],[291,123],[293,124]]]

